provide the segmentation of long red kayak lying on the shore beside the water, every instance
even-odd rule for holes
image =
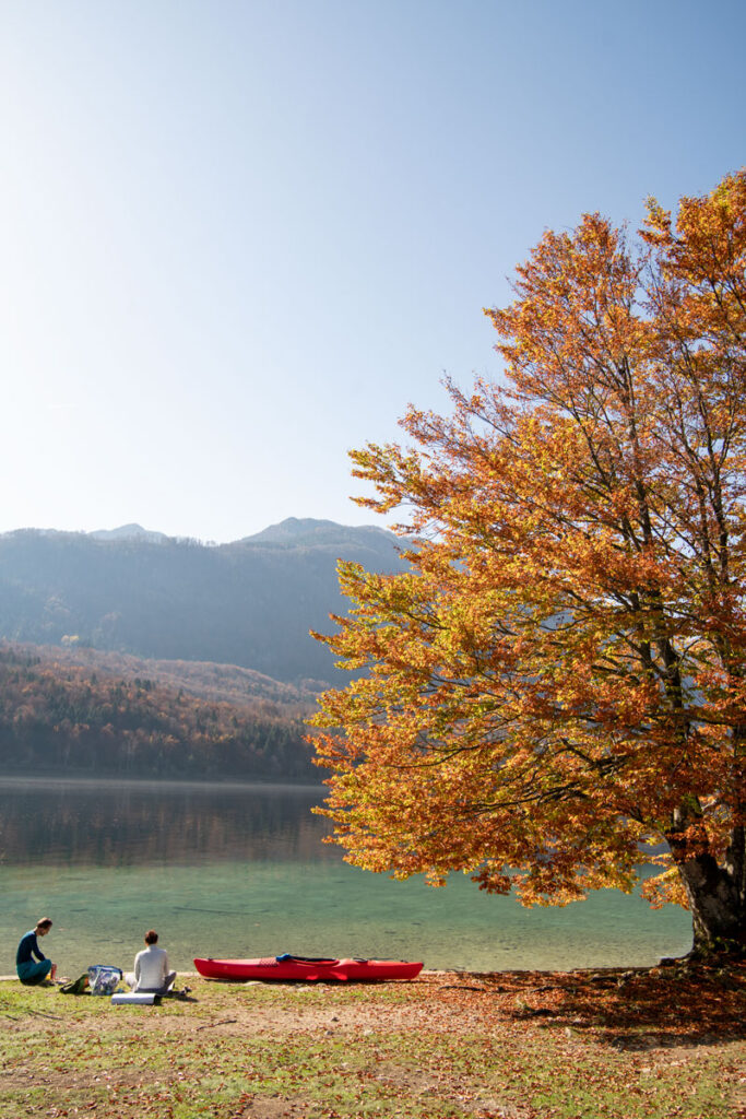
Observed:
[[[422,963],[406,960],[317,960],[304,956],[267,956],[259,960],[214,960],[197,957],[195,967],[206,979],[414,979]]]

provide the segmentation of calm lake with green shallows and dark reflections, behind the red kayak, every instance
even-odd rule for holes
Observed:
[[[691,944],[688,913],[599,891],[526,910],[464,875],[433,890],[342,862],[312,816],[319,789],[0,779],[0,974],[20,935],[55,924],[60,974],[131,968],[158,929],[173,967],[195,956],[369,956],[428,968],[650,965]]]

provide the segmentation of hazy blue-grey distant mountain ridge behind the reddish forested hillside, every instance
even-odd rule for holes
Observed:
[[[78,645],[160,660],[215,661],[282,681],[332,680],[309,637],[343,613],[338,558],[403,567],[379,528],[291,518],[207,546],[124,526],[104,534],[21,529],[0,535],[0,637]]]

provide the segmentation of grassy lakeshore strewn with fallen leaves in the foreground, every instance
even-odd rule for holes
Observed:
[[[0,984],[0,1117],[739,1115],[746,1046],[737,1040],[645,1047],[650,1031],[640,1027],[625,1035],[631,1047],[620,1049],[591,1019],[573,1028],[504,1008],[493,1015],[489,993],[475,998],[416,984],[299,990],[190,982],[195,1002],[160,1007]],[[466,1023],[469,998],[479,1013]],[[452,1015],[445,1023],[444,1006]]]

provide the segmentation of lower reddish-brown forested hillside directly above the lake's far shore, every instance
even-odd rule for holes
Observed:
[[[209,666],[190,692],[91,656],[0,649],[0,772],[319,781],[300,693],[209,699]]]

